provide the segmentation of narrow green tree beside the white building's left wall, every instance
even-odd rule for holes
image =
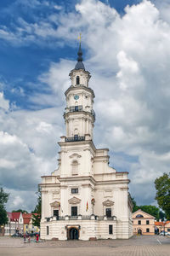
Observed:
[[[40,222],[42,218],[42,192],[41,192],[40,186],[38,186],[36,194],[37,194],[37,205],[34,211],[32,211],[31,213],[37,213],[37,214],[33,214],[32,224],[34,226],[40,227]]]

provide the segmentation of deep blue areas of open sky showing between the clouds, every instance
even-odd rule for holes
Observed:
[[[124,13],[124,8],[127,4],[132,5],[140,1],[102,1],[115,8],[120,14]],[[48,15],[59,15],[59,12],[68,14],[74,13],[75,4],[80,1],[1,1],[0,3],[0,22],[1,26],[7,27],[10,32],[16,32],[16,28],[21,26],[22,21],[28,24],[34,23],[37,20],[47,20]],[[54,9],[57,5],[60,9]],[[21,20],[21,21],[20,21]],[[54,24],[54,27],[57,27]],[[26,34],[23,32],[23,39]],[[15,101],[17,106],[21,108],[31,108],[26,102],[26,96],[18,96],[18,88],[24,88],[26,95],[32,91],[43,90],[38,88],[37,76],[48,69],[51,61],[59,61],[60,58],[75,60],[77,49],[77,34],[75,34],[75,42],[69,40],[65,42],[62,38],[52,38],[52,44],[48,44],[51,38],[45,38],[42,45],[36,42],[14,43],[13,40],[1,40],[0,46],[1,62],[0,72],[1,77],[9,85],[5,90],[5,96],[12,101]],[[58,47],[58,45],[60,47]],[[85,50],[84,50],[85,52]],[[84,56],[86,58],[86,55]],[[30,86],[30,83],[32,83]],[[28,85],[29,84],[29,85]],[[16,93],[10,92],[14,88]]]

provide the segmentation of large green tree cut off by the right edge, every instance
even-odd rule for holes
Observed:
[[[170,219],[170,173],[157,177],[155,186],[157,203],[165,212],[167,219]]]

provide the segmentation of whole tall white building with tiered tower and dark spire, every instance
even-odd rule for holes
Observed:
[[[107,148],[93,143],[94,91],[82,63],[70,73],[65,91],[65,137],[59,168],[42,177],[42,239],[116,239],[133,236],[127,172],[109,166]]]

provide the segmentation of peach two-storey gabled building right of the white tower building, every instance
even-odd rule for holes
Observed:
[[[133,235],[155,235],[155,217],[140,209],[133,212]]]

